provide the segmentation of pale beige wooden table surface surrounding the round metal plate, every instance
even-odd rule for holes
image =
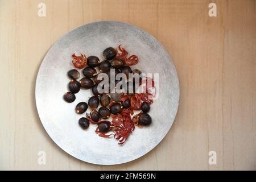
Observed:
[[[38,16],[38,4],[46,16]],[[209,3],[217,17],[208,15]],[[166,138],[118,166],[81,162],[40,123],[35,80],[48,49],[82,24],[119,20],[155,36],[170,53],[180,105]],[[0,169],[256,169],[255,1],[0,0]],[[39,151],[46,164],[38,164]],[[216,151],[217,163],[208,163]]]

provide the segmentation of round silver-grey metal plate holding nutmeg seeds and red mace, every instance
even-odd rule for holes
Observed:
[[[73,68],[72,53],[95,55],[102,60],[106,47],[119,44],[138,55],[139,63],[133,69],[159,73],[159,97],[149,113],[152,124],[142,129],[136,127],[123,146],[118,146],[113,138],[98,137],[95,125],[86,131],[79,127],[78,120],[84,115],[76,114],[75,106],[88,101],[90,90],[80,90],[71,104],[63,100],[68,91],[67,72]],[[35,97],[44,129],[60,148],[84,162],[113,165],[145,155],[168,133],[179,105],[179,81],[170,56],[153,36],[131,24],[101,21],[72,30],[49,49],[38,72]]]

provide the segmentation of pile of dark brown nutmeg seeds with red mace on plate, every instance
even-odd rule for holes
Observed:
[[[71,81],[68,84],[69,92],[65,93],[63,98],[71,103],[76,100],[75,94],[81,88],[91,89],[93,96],[87,102],[79,102],[75,107],[77,114],[85,114],[84,117],[79,119],[79,125],[82,129],[87,129],[90,123],[96,124],[95,132],[100,137],[113,136],[119,140],[118,144],[123,144],[135,129],[135,125],[142,127],[151,124],[152,119],[148,114],[152,104],[152,99],[149,97],[151,93],[135,93],[135,85],[133,85],[133,89],[129,88],[131,85],[129,83],[130,74],[141,75],[141,71],[138,69],[132,70],[130,67],[138,63],[137,56],[131,55],[128,57],[128,52],[121,46],[118,46],[117,49],[106,48],[103,51],[103,56],[105,60],[100,61],[97,56],[86,57],[82,54],[81,56],[76,56],[75,53],[72,55],[72,63],[76,69],[71,69],[67,73]],[[82,75],[84,75],[79,81],[77,80],[80,78],[80,72],[77,69],[82,69]],[[109,82],[108,92],[101,93],[98,90],[98,84],[104,80],[99,74],[106,73],[110,78],[111,69],[114,69],[112,72],[114,72],[115,76],[118,73],[125,74],[127,79],[125,80],[126,86],[123,89],[127,92],[110,93],[111,85],[114,85],[115,88],[115,85],[120,80]],[[148,80],[152,81],[147,77],[140,78],[139,85]],[[154,87],[154,81],[152,83],[151,85]],[[88,107],[92,111],[85,113]],[[141,112],[132,117],[134,110],[141,110]]]

